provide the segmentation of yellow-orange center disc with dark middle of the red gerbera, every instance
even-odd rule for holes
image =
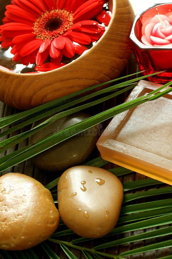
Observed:
[[[65,33],[73,25],[73,14],[66,10],[51,10],[42,14],[34,23],[37,39],[54,39]]]

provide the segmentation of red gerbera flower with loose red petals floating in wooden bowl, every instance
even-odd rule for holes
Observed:
[[[3,25],[0,26],[3,48],[12,47],[13,60],[24,65],[36,62],[37,68],[49,57],[51,66],[58,68],[63,55],[72,58],[75,53],[82,54],[85,45],[97,41],[110,20],[103,12],[105,0],[12,0],[6,6]],[[100,14],[99,14],[100,13]],[[105,14],[106,13],[106,14]],[[40,71],[40,70],[39,70]]]

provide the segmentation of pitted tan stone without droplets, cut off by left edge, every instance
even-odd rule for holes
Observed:
[[[0,177],[0,249],[24,250],[48,237],[59,225],[48,189],[24,174]]]

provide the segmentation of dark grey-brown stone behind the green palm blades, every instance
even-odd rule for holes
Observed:
[[[50,134],[56,133],[65,127],[69,127],[89,117],[86,113],[77,112],[60,118],[32,135],[29,143],[33,144],[41,138],[45,138]],[[33,126],[35,125],[38,125],[38,123],[34,123]],[[67,131],[66,134],[68,134]],[[98,137],[98,127],[94,126],[36,155],[33,157],[33,162],[37,167],[47,171],[66,170],[71,166],[83,163],[87,159],[95,148]]]

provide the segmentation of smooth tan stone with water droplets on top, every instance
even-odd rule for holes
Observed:
[[[114,174],[93,166],[74,166],[58,182],[58,208],[63,222],[82,237],[96,238],[116,225],[123,186]]]

